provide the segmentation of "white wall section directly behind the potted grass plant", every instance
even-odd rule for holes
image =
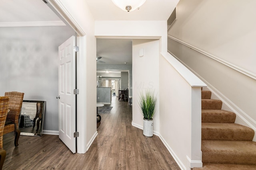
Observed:
[[[154,91],[156,113],[153,116],[153,131],[159,135],[159,40],[133,39],[132,40],[132,125],[143,129],[143,116],[138,107],[140,92],[150,89]],[[140,49],[144,49],[144,56],[139,57]]]

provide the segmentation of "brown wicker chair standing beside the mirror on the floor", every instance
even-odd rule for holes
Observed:
[[[18,140],[20,137],[20,129],[19,129],[19,116],[20,110],[22,107],[23,96],[24,93],[20,92],[5,92],[4,96],[8,96],[10,98],[9,101],[9,113],[6,117],[6,123],[4,126],[4,135],[10,132],[14,132],[14,145],[17,147]]]

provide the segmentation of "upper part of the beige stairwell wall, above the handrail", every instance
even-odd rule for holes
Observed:
[[[255,0],[180,0],[168,35],[256,73],[255,6]]]

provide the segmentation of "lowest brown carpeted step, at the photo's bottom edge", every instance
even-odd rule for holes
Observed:
[[[193,168],[193,170],[256,170],[256,165],[206,163],[202,168]]]

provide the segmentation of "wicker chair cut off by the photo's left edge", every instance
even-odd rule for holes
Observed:
[[[9,107],[9,98],[0,97],[0,170],[3,167],[6,151],[3,149],[3,135],[4,135],[4,123]]]

